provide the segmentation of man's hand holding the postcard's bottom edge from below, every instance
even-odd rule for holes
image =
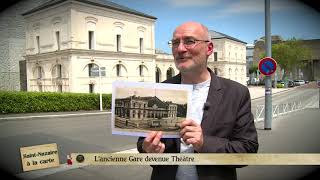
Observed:
[[[163,153],[165,145],[160,141],[162,131],[152,131],[144,139],[142,149],[147,153]]]

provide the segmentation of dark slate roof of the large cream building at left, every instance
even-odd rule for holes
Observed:
[[[30,11],[27,11],[25,13],[23,13],[22,15],[28,15],[28,14],[32,14],[34,12],[46,9],[48,7],[63,3],[65,1],[68,0],[51,0],[49,2],[46,2],[34,9],[31,9]],[[148,14],[144,14],[142,12],[136,11],[134,9],[116,4],[114,2],[108,1],[108,0],[71,0],[71,1],[78,1],[78,2],[82,2],[82,3],[86,3],[86,4],[90,4],[90,5],[94,5],[94,6],[99,6],[99,7],[104,7],[104,8],[108,8],[108,9],[113,9],[113,10],[117,10],[117,11],[122,11],[125,13],[129,13],[129,14],[134,14],[134,15],[138,15],[138,16],[142,16],[142,17],[146,17],[146,18],[150,18],[150,19],[157,19],[154,16],[150,16]]]

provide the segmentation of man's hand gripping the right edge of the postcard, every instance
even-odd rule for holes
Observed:
[[[201,126],[191,119],[182,121],[180,135],[183,141],[192,144],[196,151],[201,151],[203,146],[203,134]]]

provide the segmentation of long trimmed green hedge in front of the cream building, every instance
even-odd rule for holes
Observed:
[[[99,110],[99,94],[0,91],[0,113]],[[110,109],[111,94],[102,95],[103,109]]]

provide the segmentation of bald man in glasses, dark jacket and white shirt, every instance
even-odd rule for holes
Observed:
[[[208,28],[197,22],[178,26],[169,42],[180,73],[164,83],[191,84],[191,117],[181,123],[177,139],[161,131],[140,137],[141,153],[256,153],[257,131],[248,88],[216,76],[207,67],[213,52]],[[151,179],[237,179],[235,166],[152,166]]]

